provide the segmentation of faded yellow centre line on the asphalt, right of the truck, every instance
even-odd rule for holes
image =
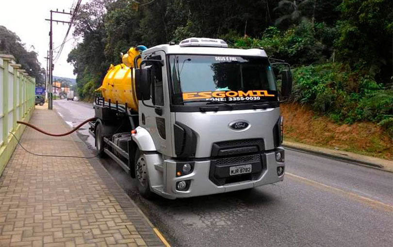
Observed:
[[[332,187],[330,185],[325,185],[325,184],[316,182],[314,180],[307,179],[307,178],[304,178],[304,177],[301,177],[301,176],[298,176],[298,175],[295,175],[295,174],[292,174],[292,173],[289,173],[289,172],[285,172],[285,174],[290,176],[290,177],[294,177],[296,179],[302,180],[302,181],[304,181],[306,183],[309,183],[311,185],[318,185],[318,186],[321,186],[321,187],[324,187],[324,188],[327,188],[327,189],[330,189],[330,190],[333,190],[333,191],[336,191],[336,192],[340,192],[340,193],[342,193],[342,194],[344,194],[346,196],[352,197],[352,198],[357,199],[359,201],[366,202],[368,205],[371,205],[373,207],[383,208],[386,211],[393,211],[393,206],[389,205],[389,204],[386,204],[384,202],[377,201],[377,200],[374,200],[374,199],[371,199],[371,198],[368,198],[368,197],[363,197],[363,196],[360,196],[358,194],[355,194],[355,193],[352,193],[352,192],[349,192],[349,191],[345,191],[345,190],[342,190],[342,189],[339,189],[339,188],[336,188],[336,187]]]

